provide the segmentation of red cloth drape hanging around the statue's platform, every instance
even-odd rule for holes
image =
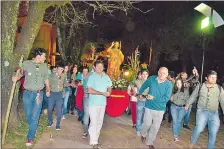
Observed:
[[[111,96],[107,98],[106,113],[111,117],[118,117],[128,107],[129,95],[126,90],[112,90]]]

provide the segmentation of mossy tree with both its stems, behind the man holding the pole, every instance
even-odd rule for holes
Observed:
[[[26,59],[30,53],[35,37],[38,34],[40,24],[43,21],[45,9],[53,4],[64,4],[65,2],[32,1],[29,3],[29,10],[26,22],[23,26],[20,38],[15,50],[14,40],[17,29],[17,17],[20,1],[2,2],[2,124],[4,124],[5,114],[8,105],[10,90],[12,87],[12,75],[18,66],[21,55]],[[6,65],[4,65],[6,64]],[[9,65],[8,65],[9,64]],[[17,85],[19,86],[19,84]],[[12,103],[9,126],[16,126],[17,122],[18,87]]]

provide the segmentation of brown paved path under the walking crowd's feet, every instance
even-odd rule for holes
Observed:
[[[192,120],[194,117],[192,116]],[[190,122],[193,128],[194,122]],[[40,140],[34,146],[39,148],[91,148],[88,139],[82,138],[82,125],[78,122],[77,117],[68,115],[61,123],[61,131],[49,128],[43,133]],[[51,138],[51,134],[53,137]],[[205,130],[201,134],[196,148],[206,148],[208,132]],[[155,148],[187,148],[191,131],[181,129],[180,141],[173,142],[172,129],[168,125],[161,126],[159,134],[155,140]],[[148,148],[146,144],[141,143],[140,137],[132,128],[131,116],[126,114],[112,118],[105,116],[105,122],[100,134],[102,148]],[[224,148],[224,126],[221,124],[217,136],[216,148]]]

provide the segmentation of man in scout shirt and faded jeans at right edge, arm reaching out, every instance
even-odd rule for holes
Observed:
[[[209,133],[207,148],[213,149],[215,147],[216,135],[220,126],[219,103],[224,109],[224,91],[216,81],[217,73],[210,70],[207,73],[206,81],[197,85],[185,106],[185,110],[187,110],[198,99],[196,125],[191,136],[190,148],[193,148],[196,144],[201,132],[207,125]]]

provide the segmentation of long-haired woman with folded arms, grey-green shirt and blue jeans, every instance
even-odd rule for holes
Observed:
[[[183,80],[177,79],[174,84],[173,94],[170,98],[174,141],[179,141],[179,130],[181,127],[181,122],[187,113],[184,107],[188,98],[189,93],[188,90],[184,88]]]

